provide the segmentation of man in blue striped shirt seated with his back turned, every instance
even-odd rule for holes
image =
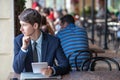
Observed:
[[[66,25],[65,22],[68,20],[68,24],[58,32],[57,37],[60,38],[62,48],[64,50],[65,55],[68,57],[71,53],[78,51],[78,50],[87,50],[89,48],[88,46],[88,37],[87,32],[84,28],[80,28],[75,26],[74,19],[71,18],[72,16],[66,15],[63,18],[61,18],[61,22],[63,22],[63,25]],[[69,23],[69,20],[70,23]],[[78,54],[78,52],[74,53],[72,57],[70,58],[70,63],[73,62],[73,58]],[[81,62],[85,59],[89,58],[88,52],[82,52],[82,56],[80,55],[78,57],[79,66],[81,65]],[[75,66],[75,64],[71,65],[72,67]]]

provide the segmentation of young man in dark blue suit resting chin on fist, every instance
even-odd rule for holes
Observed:
[[[58,38],[40,30],[41,15],[34,9],[26,9],[19,15],[20,31],[23,34],[14,39],[13,69],[16,73],[32,72],[34,62],[33,43],[36,42],[37,62],[47,62],[48,68],[41,70],[44,75],[64,75],[70,70]],[[57,60],[57,65],[54,61]]]

